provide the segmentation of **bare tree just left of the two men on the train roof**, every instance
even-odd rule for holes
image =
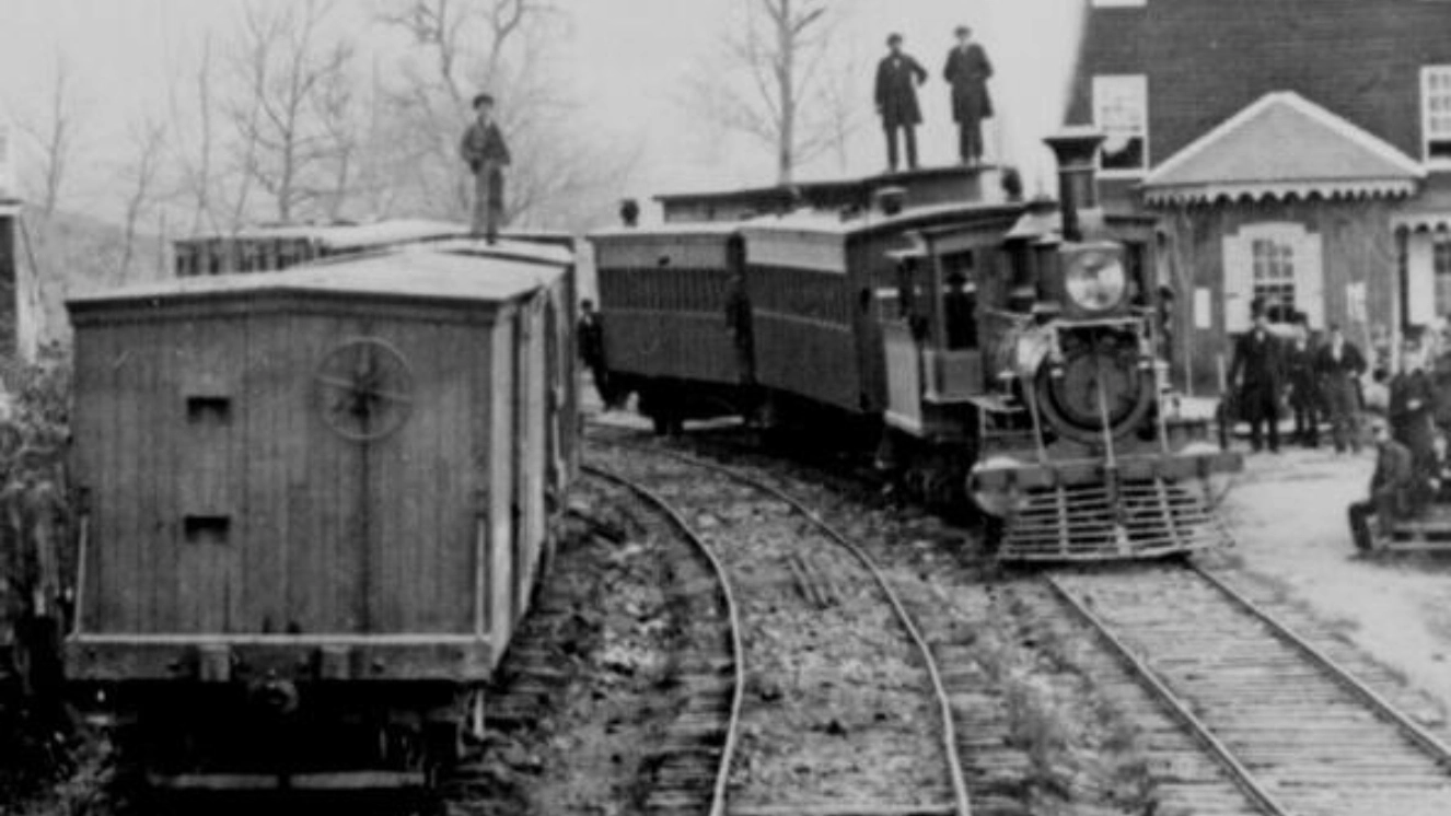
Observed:
[[[781,184],[855,129],[852,117],[842,116],[849,110],[836,84],[843,68],[831,49],[846,13],[840,1],[749,0],[723,51],[689,78],[691,107],[769,145]]]

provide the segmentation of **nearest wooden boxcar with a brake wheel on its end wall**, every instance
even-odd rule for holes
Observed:
[[[570,472],[572,275],[459,242],[70,301],[67,677],[152,783],[411,787],[451,758]]]

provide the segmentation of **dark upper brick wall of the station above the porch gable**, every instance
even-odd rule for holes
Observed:
[[[1090,9],[1066,122],[1091,122],[1096,74],[1146,74],[1154,165],[1277,90],[1419,159],[1421,67],[1429,64],[1451,64],[1451,1],[1148,0]]]

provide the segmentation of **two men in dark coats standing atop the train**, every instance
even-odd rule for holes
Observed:
[[[982,162],[982,120],[992,116],[992,99],[988,96],[988,78],[992,64],[987,51],[972,39],[972,29],[958,26],[958,42],[948,52],[943,78],[952,90],[952,117],[958,123],[958,155],[962,164]],[[917,103],[917,86],[927,81],[927,71],[903,51],[903,35],[887,38],[888,54],[876,67],[876,113],[882,117],[887,133],[887,165],[898,168],[897,139],[901,133],[907,145],[907,167],[917,168],[917,125],[921,125],[921,106]]]

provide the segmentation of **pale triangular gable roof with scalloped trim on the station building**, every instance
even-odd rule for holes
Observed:
[[[1145,180],[1149,203],[1409,196],[1425,170],[1393,145],[1293,91],[1230,116]]]

